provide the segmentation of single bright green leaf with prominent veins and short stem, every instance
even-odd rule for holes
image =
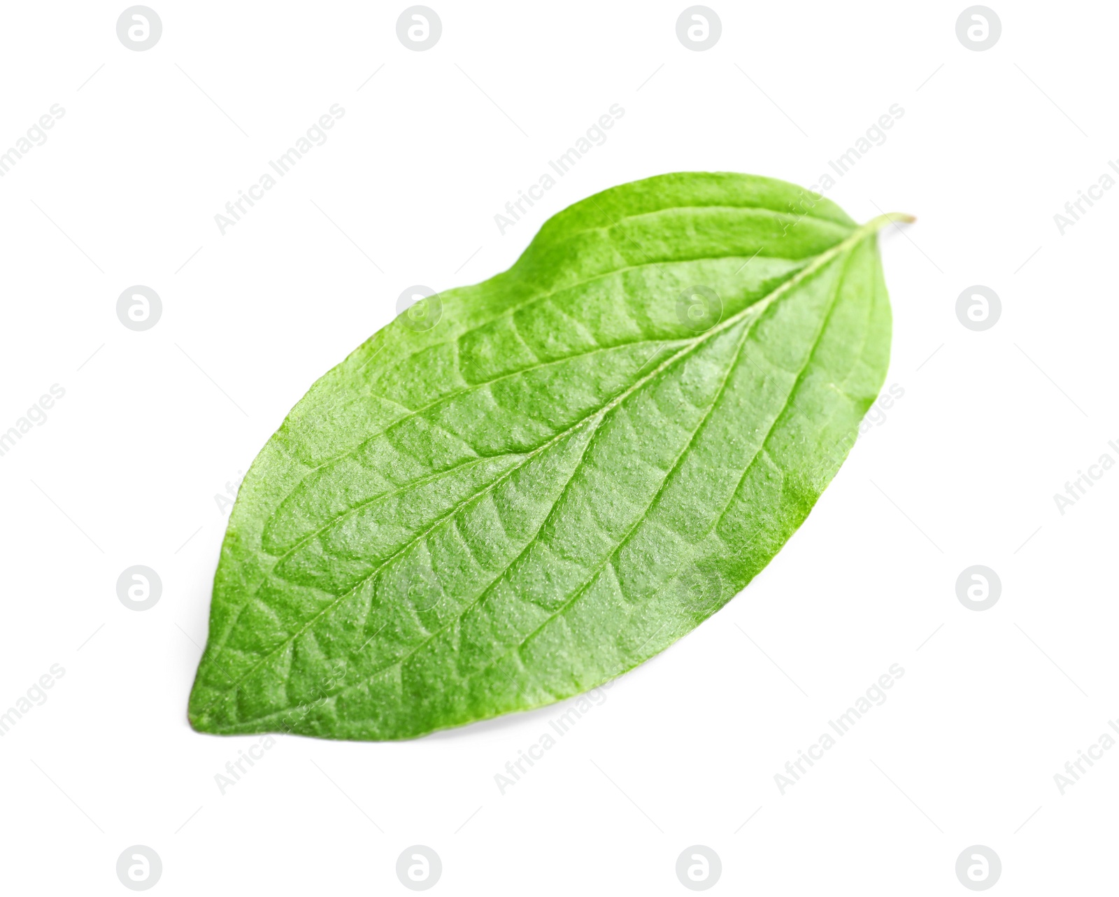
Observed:
[[[649,178],[375,334],[241,486],[191,725],[413,738],[698,626],[801,524],[882,385],[891,219],[768,178]]]

